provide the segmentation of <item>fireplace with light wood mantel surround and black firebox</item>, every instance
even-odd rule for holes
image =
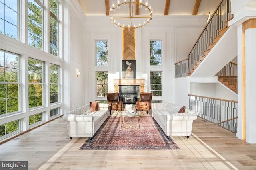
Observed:
[[[145,79],[114,79],[114,92],[119,93],[119,100],[124,104],[133,104],[140,100],[144,85]]]

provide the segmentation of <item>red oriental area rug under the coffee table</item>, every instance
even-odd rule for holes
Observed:
[[[134,125],[138,118],[125,118]],[[122,128],[125,125],[122,126]],[[139,128],[139,127],[138,127]],[[167,139],[164,131],[151,116],[141,116],[141,130],[132,127],[120,130],[119,116],[110,116],[80,149],[180,149],[173,139]]]

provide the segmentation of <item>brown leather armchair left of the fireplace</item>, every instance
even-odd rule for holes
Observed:
[[[119,93],[107,93],[107,100],[108,100],[108,112],[111,110],[123,110],[123,102],[119,101]]]

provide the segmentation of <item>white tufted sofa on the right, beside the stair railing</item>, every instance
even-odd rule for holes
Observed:
[[[152,117],[163,129],[166,136],[190,137],[193,120],[196,113],[185,109],[185,113],[178,113],[181,106],[172,103],[152,103]]]

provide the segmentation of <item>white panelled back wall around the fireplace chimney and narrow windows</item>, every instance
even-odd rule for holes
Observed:
[[[154,16],[146,27],[136,29],[137,78],[145,78],[145,92],[150,91],[150,71],[162,71],[162,97],[153,100],[175,102],[175,70],[177,47],[179,59],[187,58],[198,34],[205,26],[205,16]],[[86,16],[85,21],[86,102],[96,98],[96,71],[108,71],[108,92],[114,92],[113,79],[121,78],[122,28],[114,27],[108,16]],[[190,30],[191,29],[191,30]],[[190,30],[190,31],[188,31]],[[108,66],[95,66],[96,40],[108,40]],[[150,66],[150,40],[162,41],[162,66]],[[182,58],[184,57],[184,58]]]

